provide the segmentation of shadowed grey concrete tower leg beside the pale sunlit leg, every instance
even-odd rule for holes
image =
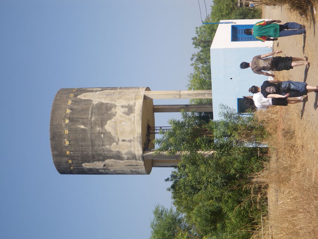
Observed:
[[[191,110],[195,110],[196,112],[213,112],[213,107],[211,105],[154,105],[153,112],[181,112],[181,110],[185,110],[186,112],[190,112]]]

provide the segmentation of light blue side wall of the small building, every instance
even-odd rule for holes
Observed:
[[[252,95],[248,89],[260,86],[267,76],[240,69],[241,62],[251,62],[256,55],[272,52],[270,47],[211,48],[213,119],[218,120],[219,104],[237,109],[237,98]],[[232,80],[230,79],[232,78]]]

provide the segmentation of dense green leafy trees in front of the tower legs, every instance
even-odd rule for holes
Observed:
[[[253,115],[221,108],[223,119],[208,123],[195,112],[182,112],[182,119],[170,120],[171,130],[156,140],[156,151],[183,153],[166,181],[171,182],[168,190],[177,212],[184,214],[194,235],[248,238],[261,213],[248,183],[251,174],[262,169],[262,162],[257,148],[246,145],[259,144],[266,130]],[[201,152],[211,150],[215,152],[209,157]]]

